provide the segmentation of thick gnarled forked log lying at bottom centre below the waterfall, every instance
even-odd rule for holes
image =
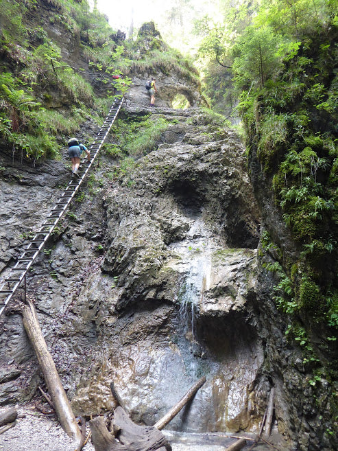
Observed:
[[[162,432],[154,426],[138,426],[122,407],[114,410],[114,434],[106,428],[103,417],[90,420],[95,451],[171,451]]]

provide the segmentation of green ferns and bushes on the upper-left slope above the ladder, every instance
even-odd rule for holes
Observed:
[[[34,161],[55,157],[60,148],[56,133],[69,135],[78,130],[81,122],[88,119],[90,107],[106,109],[95,95],[88,76],[92,82],[99,78],[111,103],[112,74],[119,72],[118,57],[123,49],[111,40],[112,30],[104,16],[97,11],[90,13],[86,1],[48,0],[51,23],[74,39],[80,34],[85,41],[86,34],[89,36],[93,73],[84,74],[83,70],[62,61],[60,47],[42,27],[29,25],[32,23],[29,14],[43,8],[40,0],[1,0],[0,3],[1,134],[4,142],[24,157]],[[117,82],[117,89],[123,92],[128,84],[128,78],[124,78],[123,82]],[[56,113],[51,107],[60,102],[64,110]]]

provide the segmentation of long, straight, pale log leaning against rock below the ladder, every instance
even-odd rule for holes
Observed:
[[[43,371],[43,376],[48,387],[53,406],[58,415],[60,424],[64,432],[69,435],[77,444],[81,442],[81,432],[77,426],[77,421],[71,409],[71,404],[62,386],[58,371],[53,362],[53,358],[47,349],[45,338],[38,323],[38,316],[34,305],[28,301],[23,308],[23,325],[25,326],[29,340],[34,347],[38,363]]]

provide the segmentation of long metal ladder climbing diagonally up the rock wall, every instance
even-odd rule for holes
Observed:
[[[114,103],[110,107],[110,111],[106,119],[104,120],[104,124],[101,126],[99,132],[97,133],[97,137],[93,141],[93,144],[88,149],[90,151],[90,161],[87,162],[87,159],[84,159],[82,161],[79,167],[80,177],[75,178],[77,176],[73,176],[63,194],[60,196],[60,198],[58,198],[56,205],[54,205],[46,220],[41,225],[40,229],[38,229],[32,240],[30,240],[29,244],[16,261],[16,264],[14,264],[12,268],[10,268],[8,277],[3,280],[0,286],[0,316],[5,311],[6,306],[8,305],[22,282],[24,282],[25,284],[24,289],[26,297],[27,271],[34,263],[34,260],[38,256],[38,253],[40,253],[40,251],[45,246],[47,240],[58,225],[58,222],[60,221],[62,216],[64,216],[64,213],[67,211],[71,200],[73,200],[73,197],[84,181],[84,177],[90,170],[90,167],[93,165],[96,157],[99,155],[99,150],[103,146],[104,141],[106,140],[106,137],[110,132],[110,128],[112,127],[114,120],[119,114],[123,100],[124,97],[114,100]]]

